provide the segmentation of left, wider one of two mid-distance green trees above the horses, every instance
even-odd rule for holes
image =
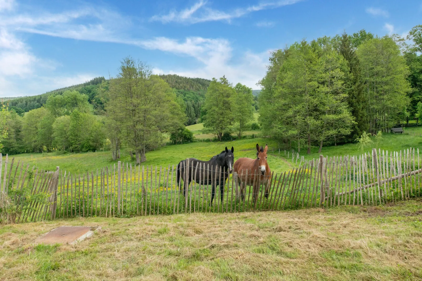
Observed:
[[[219,81],[212,79],[205,95],[204,132],[216,135],[221,140],[223,133],[230,129],[233,122],[230,97],[234,94],[235,90],[225,76]]]

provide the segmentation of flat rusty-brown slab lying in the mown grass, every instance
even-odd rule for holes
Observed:
[[[43,237],[35,240],[35,243],[74,244],[85,238],[91,237],[96,229],[97,227],[57,227],[54,230],[47,232]]]

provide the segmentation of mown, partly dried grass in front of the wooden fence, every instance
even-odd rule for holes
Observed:
[[[0,227],[0,279],[420,280],[422,201],[378,207],[89,218]],[[33,245],[61,225],[74,246]]]

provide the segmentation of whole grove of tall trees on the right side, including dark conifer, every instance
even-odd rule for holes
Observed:
[[[412,45],[360,30],[273,51],[259,82],[265,134],[310,153],[422,117],[421,30],[409,33]]]

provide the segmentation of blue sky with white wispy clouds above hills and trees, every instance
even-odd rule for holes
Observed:
[[[260,89],[273,50],[361,29],[405,37],[417,24],[422,0],[0,0],[0,97],[115,77],[127,56],[155,74]]]

